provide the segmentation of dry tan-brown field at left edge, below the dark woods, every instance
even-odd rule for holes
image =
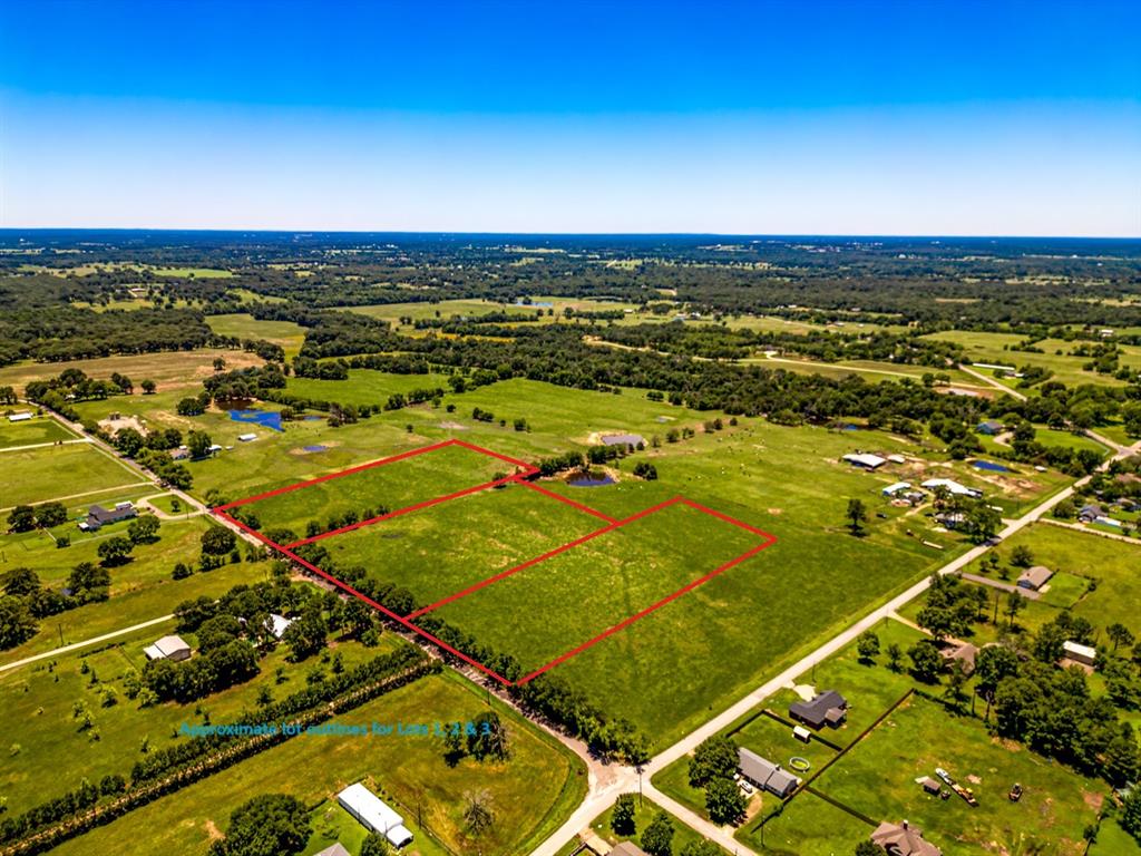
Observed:
[[[135,381],[136,395],[143,397],[139,383],[153,380],[160,391],[180,389],[195,395],[202,389],[202,379],[213,374],[213,361],[222,357],[230,369],[261,365],[262,361],[243,350],[200,348],[197,350],[160,352],[156,354],[131,354],[129,356],[99,357],[97,360],[72,360],[64,363],[14,363],[0,368],[0,386],[14,386],[23,394],[30,380],[54,378],[67,369],[79,369],[92,378],[110,378],[114,372],[126,374]]]

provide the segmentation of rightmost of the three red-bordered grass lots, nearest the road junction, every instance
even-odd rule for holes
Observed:
[[[512,654],[529,672],[762,542],[747,530],[677,503],[454,600],[436,614]],[[510,622],[500,620],[504,609],[512,613]]]

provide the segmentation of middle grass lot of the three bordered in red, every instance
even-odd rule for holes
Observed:
[[[421,605],[467,589],[607,522],[509,484],[402,515],[322,546],[338,567],[361,566],[404,586]]]

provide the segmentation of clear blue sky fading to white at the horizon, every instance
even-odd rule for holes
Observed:
[[[1141,235],[1141,3],[0,1],[0,225]]]

